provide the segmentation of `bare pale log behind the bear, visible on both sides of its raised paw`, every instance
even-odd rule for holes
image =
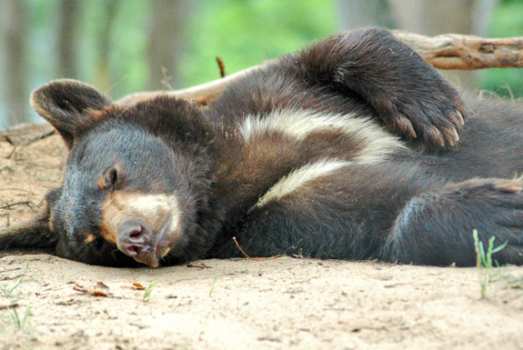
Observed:
[[[397,30],[391,32],[397,39],[410,45],[430,65],[438,69],[473,70],[523,67],[523,36],[488,39],[472,35],[448,34],[430,37]],[[216,98],[216,95],[227,84],[259,66],[266,65],[267,62],[203,85],[182,90],[140,92],[126,95],[116,103],[131,105],[159,95],[169,95],[206,104]]]

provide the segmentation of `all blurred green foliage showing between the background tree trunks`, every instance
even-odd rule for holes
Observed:
[[[81,9],[75,39],[78,49],[75,78],[97,85],[115,98],[144,91],[149,77],[147,49],[152,2],[118,1],[114,26],[106,33],[106,8],[115,0],[78,1]],[[28,0],[28,5],[30,62],[27,69],[29,89],[33,89],[62,77],[56,73],[55,50],[60,2]],[[192,7],[193,15],[187,16],[183,24],[188,28],[188,35],[180,62],[182,81],[174,85],[176,88],[217,79],[216,56],[223,58],[227,73],[233,74],[259,65],[267,58],[297,50],[339,28],[336,0],[194,0],[187,5]],[[521,0],[501,1],[492,15],[489,35],[522,35],[521,14]],[[109,35],[111,48],[108,86],[97,83],[104,73],[98,69],[102,35]],[[479,75],[482,87],[489,91],[523,96],[523,69],[488,69]],[[0,113],[2,103],[0,100]]]

